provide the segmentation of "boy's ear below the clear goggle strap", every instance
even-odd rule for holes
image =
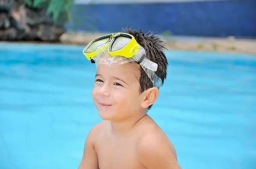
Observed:
[[[156,87],[149,88],[143,92],[143,101],[141,107],[147,108],[148,106],[154,104],[157,100],[159,90]]]

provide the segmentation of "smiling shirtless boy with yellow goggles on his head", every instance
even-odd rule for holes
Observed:
[[[165,44],[125,28],[90,42],[96,64],[93,101],[100,117],[87,135],[79,169],[181,169],[175,148],[147,115],[166,79]]]

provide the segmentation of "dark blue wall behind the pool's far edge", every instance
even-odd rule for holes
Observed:
[[[113,32],[129,25],[175,35],[256,37],[256,0],[75,5],[73,16],[77,31]]]

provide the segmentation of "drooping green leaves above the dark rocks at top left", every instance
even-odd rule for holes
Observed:
[[[33,8],[42,8],[47,5],[47,14],[52,14],[53,21],[59,19],[60,14],[66,13],[71,18],[71,8],[74,0],[24,0],[28,6]]]

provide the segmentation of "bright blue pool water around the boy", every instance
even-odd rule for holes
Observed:
[[[76,169],[101,121],[84,46],[0,43],[0,169]],[[149,115],[183,169],[256,168],[256,56],[166,51]],[[111,153],[111,152],[110,152]]]

